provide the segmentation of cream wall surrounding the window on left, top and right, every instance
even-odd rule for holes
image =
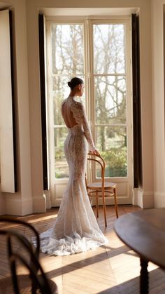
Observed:
[[[4,1],[1,2],[4,3]],[[73,8],[75,1],[27,0],[25,2],[25,0],[10,0],[8,2],[15,11],[17,157],[19,159],[20,187],[16,194],[6,196],[6,213],[24,215],[45,211],[42,176],[38,9]],[[99,0],[76,2],[77,8],[97,8],[99,6]],[[143,187],[135,193],[135,203],[142,207],[152,207],[154,188],[150,0],[102,0],[101,7],[140,8]]]

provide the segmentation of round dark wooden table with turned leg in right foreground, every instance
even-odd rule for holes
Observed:
[[[115,232],[140,256],[140,290],[148,293],[148,262],[165,269],[165,208],[122,215],[115,221]]]

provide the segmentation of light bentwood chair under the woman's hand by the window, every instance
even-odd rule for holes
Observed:
[[[116,213],[116,217],[118,218],[117,193],[116,193],[117,184],[115,182],[105,181],[106,164],[101,156],[89,153],[87,160],[93,161],[94,163],[99,163],[99,166],[101,168],[101,180],[100,181],[87,182],[87,178],[85,178],[85,181],[86,181],[86,187],[87,187],[87,194],[89,196],[96,197],[96,218],[99,218],[99,197],[102,197],[102,199],[103,199],[103,213],[104,213],[105,225],[107,227],[106,200],[105,200],[106,196],[113,196],[114,197],[115,213]]]

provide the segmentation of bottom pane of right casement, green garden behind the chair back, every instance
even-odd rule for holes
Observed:
[[[106,177],[127,177],[127,131],[125,127],[96,127],[96,148],[106,161]],[[96,177],[100,178],[99,168],[96,168]]]

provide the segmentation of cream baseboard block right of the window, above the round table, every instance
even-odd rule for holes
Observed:
[[[133,189],[133,204],[141,208],[154,208],[154,192],[143,192],[141,189]]]

